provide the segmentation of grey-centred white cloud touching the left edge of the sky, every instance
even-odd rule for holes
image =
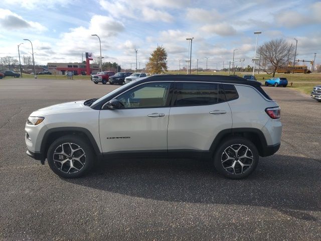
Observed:
[[[27,21],[8,9],[0,9],[0,26],[11,31],[28,29],[43,32],[47,30],[47,28],[40,23]]]

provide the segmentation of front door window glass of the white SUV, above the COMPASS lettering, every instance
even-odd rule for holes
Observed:
[[[122,93],[116,99],[124,108],[165,107],[168,105],[170,82],[146,83]]]

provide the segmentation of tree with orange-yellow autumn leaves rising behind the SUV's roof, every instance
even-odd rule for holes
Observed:
[[[148,69],[148,72],[151,74],[167,72],[167,52],[163,46],[157,46],[150,54],[146,69]]]

